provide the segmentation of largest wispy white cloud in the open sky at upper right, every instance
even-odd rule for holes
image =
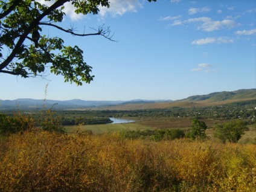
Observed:
[[[230,19],[225,19],[222,21],[213,21],[213,19],[211,18],[206,18],[206,17],[202,17],[202,18],[193,18],[193,19],[188,19],[185,22],[187,23],[195,23],[195,22],[200,22],[202,24],[200,24],[197,27],[197,30],[203,30],[203,31],[216,31],[216,30],[220,30],[220,28],[233,28],[235,27],[235,25],[237,25],[235,23],[235,21],[232,21]]]

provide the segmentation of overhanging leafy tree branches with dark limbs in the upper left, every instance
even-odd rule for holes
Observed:
[[[42,26],[56,28],[72,36],[100,35],[112,40],[109,27],[104,25],[94,29],[95,33],[91,34],[75,33],[73,27],[61,26],[65,16],[65,3],[70,2],[77,14],[98,14],[99,6],[109,7],[109,0],[40,2],[42,1],[0,0],[0,72],[27,78],[43,76],[45,68],[50,66],[50,71],[55,75],[63,75],[65,82],[77,85],[82,85],[82,82],[90,83],[94,75],[90,74],[91,66],[83,59],[83,51],[76,45],[64,45],[64,40],[60,37],[46,36]]]

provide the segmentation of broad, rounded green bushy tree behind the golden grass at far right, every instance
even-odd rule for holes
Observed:
[[[220,139],[223,143],[226,141],[237,142],[248,127],[243,121],[230,121],[228,123],[216,124],[214,126],[214,137]]]

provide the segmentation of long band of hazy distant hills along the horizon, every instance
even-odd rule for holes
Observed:
[[[34,100],[19,98],[0,100],[0,110],[13,109],[156,109],[168,107],[194,107],[210,104],[231,103],[236,101],[256,100],[256,89],[213,92],[207,95],[194,95],[182,100],[130,100],[130,101],[85,101],[85,100]]]

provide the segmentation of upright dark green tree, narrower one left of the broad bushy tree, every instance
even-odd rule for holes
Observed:
[[[191,130],[186,133],[186,136],[187,138],[191,138],[191,139],[205,139],[206,129],[207,129],[207,126],[205,122],[194,119],[192,120],[192,123],[191,123]]]

